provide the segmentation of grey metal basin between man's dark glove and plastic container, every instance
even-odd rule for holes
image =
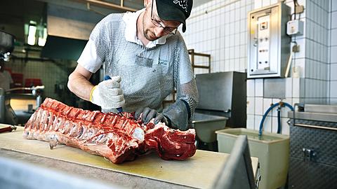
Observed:
[[[216,131],[225,129],[227,120],[228,118],[222,116],[194,113],[192,126],[201,141],[211,143],[216,141]]]

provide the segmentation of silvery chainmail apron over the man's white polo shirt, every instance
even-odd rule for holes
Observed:
[[[125,40],[122,15],[104,18],[91,39],[105,64],[105,74],[121,76],[126,102],[123,111],[146,106],[162,111],[161,102],[176,88],[177,99],[184,99],[193,113],[198,102],[197,85],[183,37],[178,32],[154,48],[131,43]]]

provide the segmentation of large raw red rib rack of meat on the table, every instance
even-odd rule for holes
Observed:
[[[194,155],[195,131],[173,130],[164,123],[141,124],[131,113],[87,111],[47,98],[25,125],[23,137],[81,148],[113,163],[134,160],[155,150],[164,160]]]

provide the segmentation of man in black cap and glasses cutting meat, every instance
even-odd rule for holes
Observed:
[[[163,122],[188,129],[198,102],[190,57],[177,28],[190,16],[192,0],[145,0],[136,13],[110,14],[91,32],[68,87],[103,111],[136,111],[147,124]],[[111,77],[96,86],[88,80],[105,65]],[[163,111],[174,89],[177,100]]]

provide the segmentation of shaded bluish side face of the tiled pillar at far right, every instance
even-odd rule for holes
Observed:
[[[330,1],[306,1],[305,103],[329,102]]]

